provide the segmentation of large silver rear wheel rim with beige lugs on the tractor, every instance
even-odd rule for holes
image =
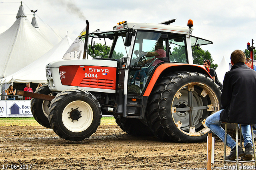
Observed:
[[[210,130],[205,125],[205,115],[208,111],[215,113],[218,108],[218,97],[210,87],[203,83],[188,83],[176,92],[172,100],[172,119],[183,133],[202,136]]]

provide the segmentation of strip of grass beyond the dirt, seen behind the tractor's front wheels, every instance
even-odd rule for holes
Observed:
[[[101,125],[116,125],[114,117],[102,117]],[[0,126],[41,126],[34,117],[2,117]]]

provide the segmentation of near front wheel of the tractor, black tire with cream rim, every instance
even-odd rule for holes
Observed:
[[[49,122],[58,136],[76,141],[96,132],[102,117],[100,103],[88,91],[69,89],[52,100]]]

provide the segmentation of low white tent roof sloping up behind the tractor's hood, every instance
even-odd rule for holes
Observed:
[[[45,66],[52,62],[62,60],[62,57],[68,47],[70,47],[72,40],[65,36],[57,45],[55,45],[50,51],[42,55],[39,59],[33,63],[27,65],[20,71],[1,79],[2,83],[47,83]]]

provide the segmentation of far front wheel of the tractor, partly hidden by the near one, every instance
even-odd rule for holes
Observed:
[[[52,91],[50,91],[48,84],[39,87],[35,93],[52,95]],[[48,120],[50,101],[32,98],[30,105],[32,115],[36,121],[43,127],[52,128]]]

